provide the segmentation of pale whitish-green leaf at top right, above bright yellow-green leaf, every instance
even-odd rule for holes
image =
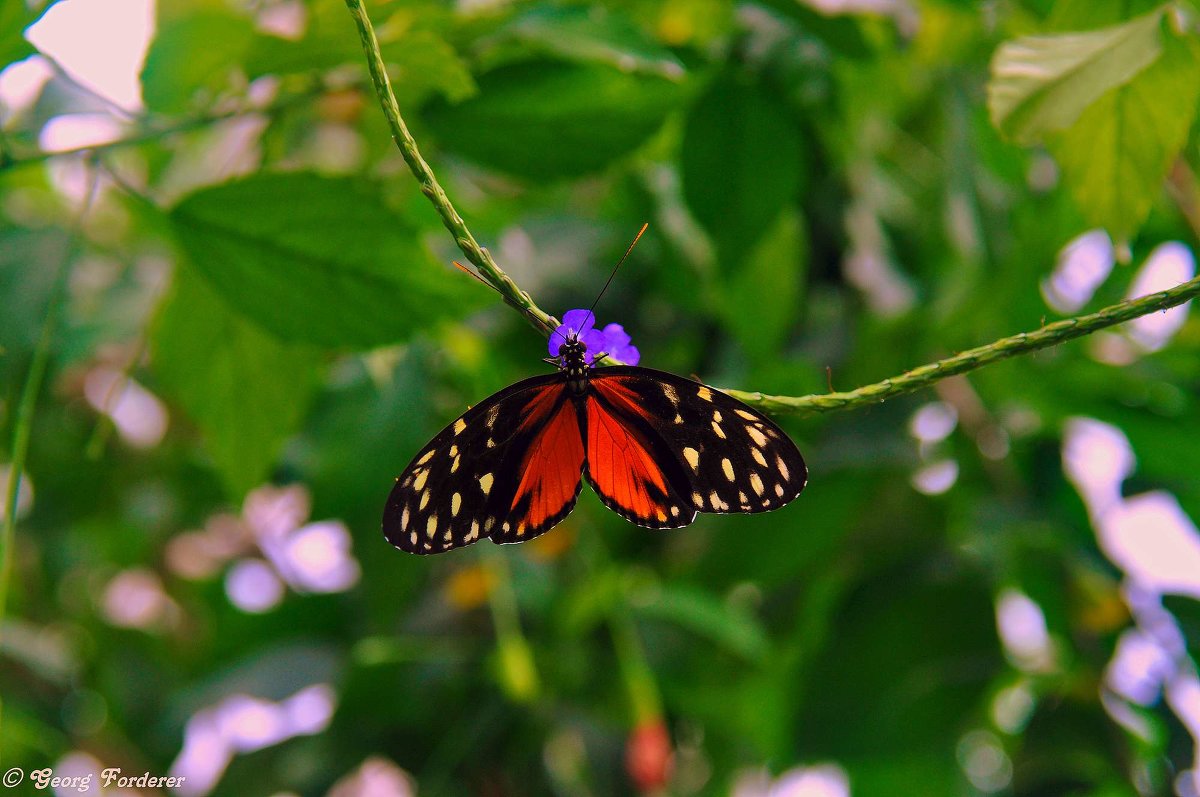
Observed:
[[[992,124],[1020,144],[1066,130],[1105,92],[1154,62],[1162,29],[1158,8],[1100,30],[1004,42],[988,83]]]

